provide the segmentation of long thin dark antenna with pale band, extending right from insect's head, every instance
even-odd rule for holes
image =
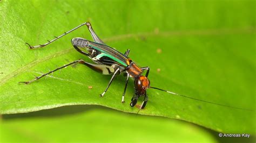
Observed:
[[[240,109],[240,110],[254,111],[254,110],[252,110],[252,109],[237,108],[237,107],[228,106],[228,105],[224,105],[224,104],[213,103],[213,102],[209,102],[209,101],[203,101],[203,100],[201,100],[201,99],[196,99],[196,98],[193,98],[193,97],[188,97],[188,96],[185,96],[185,95],[176,94],[176,93],[174,93],[174,92],[167,91],[167,90],[160,89],[160,88],[155,88],[155,87],[149,87],[149,88],[158,89],[158,90],[161,90],[161,91],[165,91],[165,92],[167,92],[167,93],[169,93],[169,94],[173,94],[173,95],[178,95],[178,96],[190,98],[190,99],[193,99],[193,100],[196,100],[196,101],[201,101],[201,102],[205,102],[205,103],[210,103],[210,104],[225,106],[225,107],[227,107],[227,108],[234,108],[234,109]]]

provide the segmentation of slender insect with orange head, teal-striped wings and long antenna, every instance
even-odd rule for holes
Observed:
[[[144,109],[146,104],[147,104],[147,101],[149,100],[149,98],[146,94],[146,90],[149,89],[149,88],[152,88],[152,89],[157,89],[157,90],[168,92],[169,94],[174,94],[174,95],[190,98],[190,99],[194,99],[194,100],[205,102],[205,103],[210,103],[210,104],[215,104],[215,105],[220,105],[220,106],[226,106],[228,108],[235,108],[235,107],[232,107],[232,106],[227,106],[227,105],[218,104],[218,103],[212,103],[212,102],[208,102],[208,101],[203,101],[201,99],[196,99],[196,98],[176,94],[174,92],[159,89],[159,88],[156,88],[156,87],[151,87],[150,86],[150,80],[149,80],[149,78],[147,78],[149,76],[150,68],[149,67],[139,67],[138,65],[136,65],[136,63],[133,62],[129,58],[130,49],[127,49],[126,52],[123,54],[123,53],[117,51],[116,49],[113,49],[110,46],[107,46],[97,36],[97,34],[93,31],[93,28],[92,28],[92,26],[89,22],[83,23],[83,24],[71,29],[68,32],[64,32],[62,35],[59,35],[58,37],[55,37],[55,39],[48,40],[48,42],[46,42],[43,45],[31,46],[27,42],[26,42],[26,44],[29,45],[30,49],[42,48],[46,45],[51,44],[53,41],[58,40],[59,38],[63,37],[64,35],[69,34],[70,32],[77,30],[77,28],[82,27],[84,25],[87,26],[87,28],[88,28],[88,30],[89,30],[89,32],[90,32],[94,41],[89,41],[89,40],[84,39],[84,38],[73,38],[71,40],[71,43],[72,43],[73,47],[79,53],[88,56],[96,64],[89,63],[89,62],[86,62],[84,60],[76,60],[76,61],[70,62],[67,65],[64,65],[62,67],[51,70],[48,73],[45,73],[41,76],[35,77],[33,80],[25,81],[25,82],[19,82],[19,83],[30,84],[31,82],[37,81],[40,78],[42,78],[46,75],[49,75],[49,74],[51,74],[51,73],[53,73],[53,72],[55,72],[59,69],[68,67],[68,66],[73,65],[75,63],[79,63],[79,64],[85,65],[85,66],[87,66],[87,67],[89,67],[89,68],[91,68],[91,69],[93,69],[93,70],[95,70],[99,73],[102,73],[104,75],[113,74],[110,81],[109,81],[109,84],[107,84],[106,89],[103,91],[102,94],[100,94],[100,96],[102,96],[102,97],[105,95],[105,93],[109,89],[109,87],[110,87],[112,81],[114,80],[114,78],[117,75],[121,74],[121,73],[125,73],[126,82],[125,82],[124,92],[123,92],[123,95],[122,95],[122,103],[125,103],[124,97],[125,97],[125,91],[126,91],[126,88],[127,88],[127,83],[129,81],[129,77],[133,78],[133,80],[134,80],[134,95],[133,95],[133,97],[131,99],[131,103],[130,103],[130,106],[132,106],[132,107],[137,104],[138,98],[140,96],[144,96],[142,105],[140,106],[140,109]],[[145,75],[143,75],[143,71],[146,71]],[[242,108],[235,108],[235,109],[242,109]],[[242,110],[250,110],[250,109],[242,109]]]

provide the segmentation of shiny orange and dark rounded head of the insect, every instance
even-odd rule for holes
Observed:
[[[134,80],[134,88],[135,88],[135,94],[140,96],[144,95],[146,93],[146,89],[150,87],[150,81],[149,78],[146,76],[140,75],[139,77],[136,77]]]

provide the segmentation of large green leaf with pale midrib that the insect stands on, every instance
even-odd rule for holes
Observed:
[[[121,52],[129,48],[133,61],[150,66],[152,87],[253,110],[149,89],[149,102],[140,114],[186,120],[218,132],[255,134],[254,5],[254,1],[2,1],[0,113],[75,104],[138,112],[129,105],[132,80],[125,104],[121,103],[122,75],[100,98],[111,76],[83,65],[29,85],[18,84],[77,59],[91,62],[70,42],[74,37],[92,40],[86,27],[45,48],[29,50],[25,45],[43,44],[53,35],[90,21],[107,45]]]

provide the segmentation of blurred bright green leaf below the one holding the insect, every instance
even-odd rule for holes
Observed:
[[[1,129],[1,142],[217,142],[204,128],[183,121],[104,109],[4,120]]]

